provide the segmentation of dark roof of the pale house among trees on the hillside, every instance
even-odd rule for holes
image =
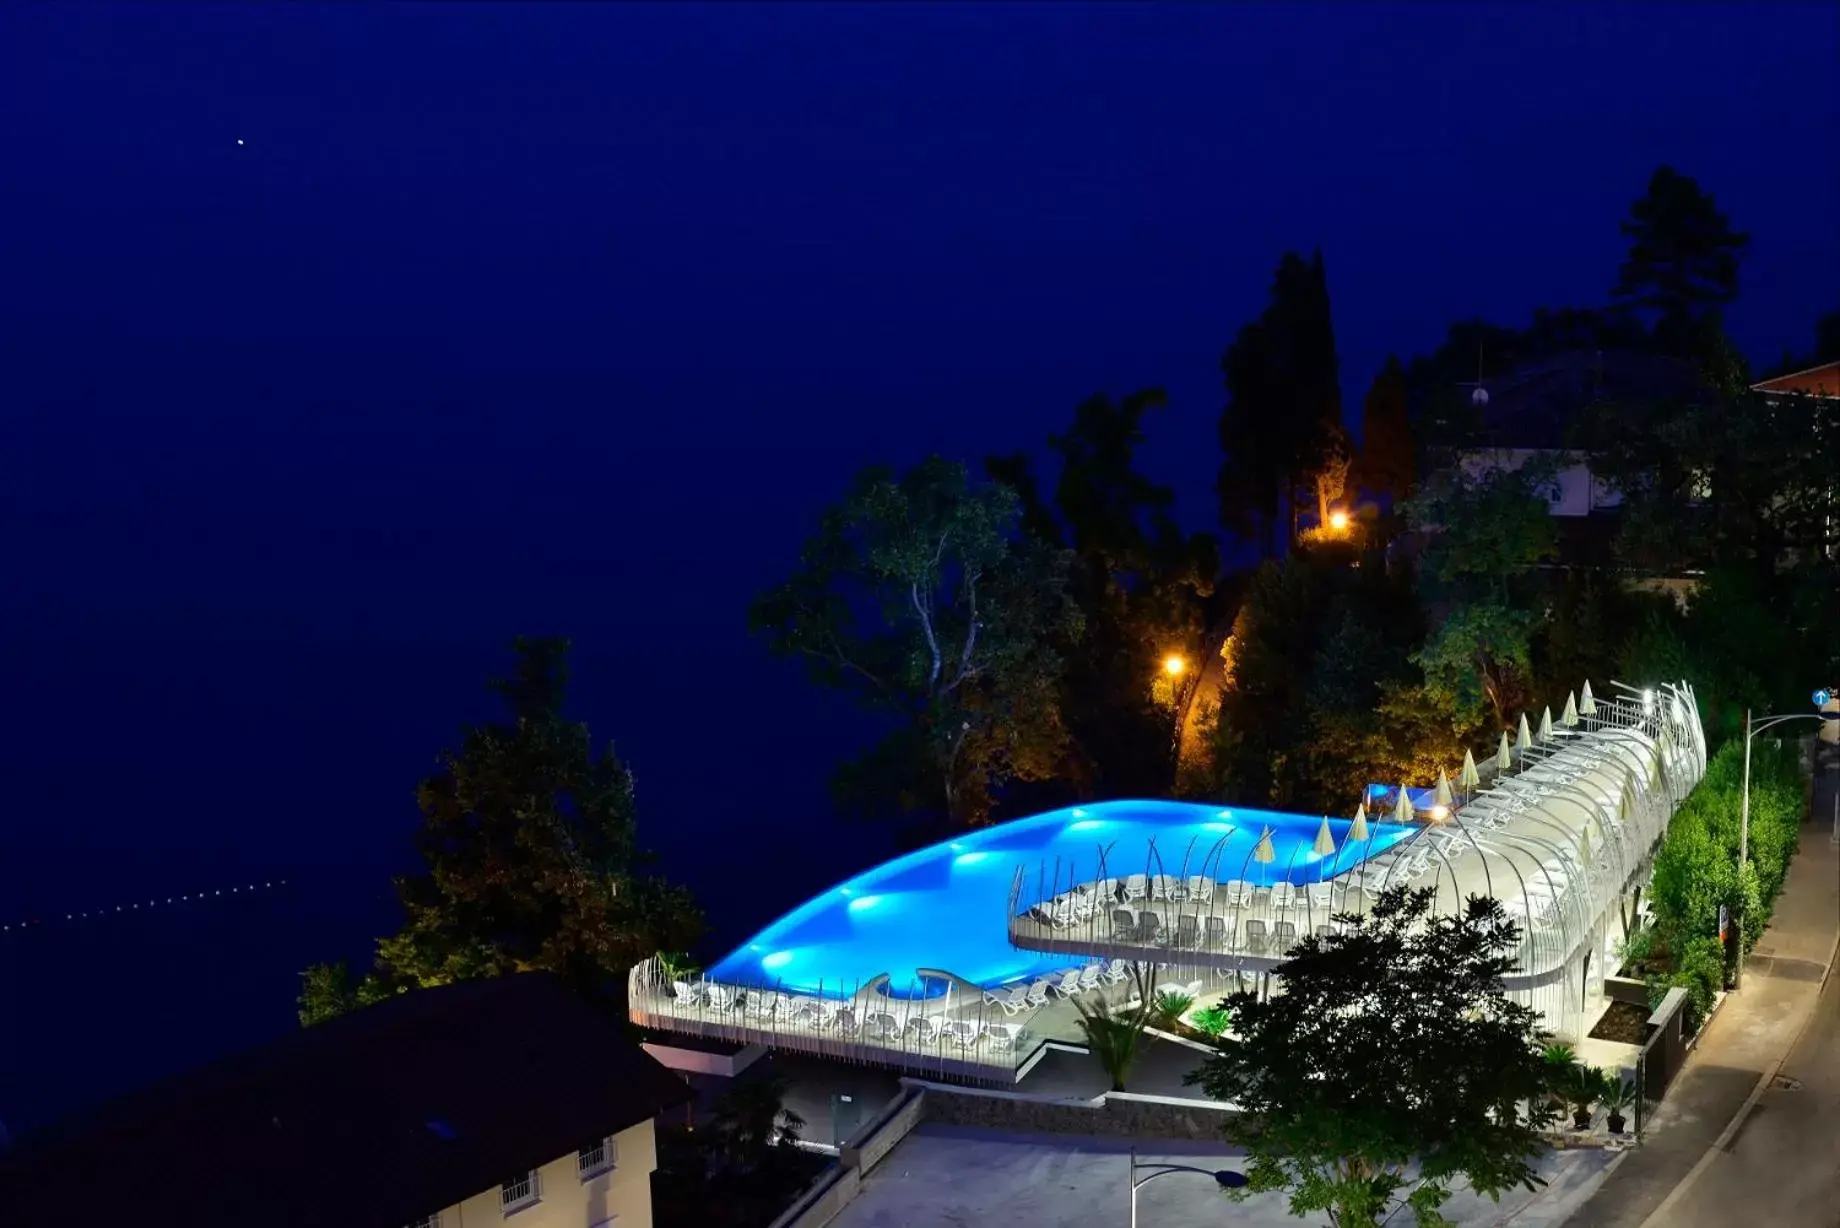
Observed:
[[[1709,390],[1691,363],[1634,350],[1568,350],[1485,379],[1483,444],[1566,447],[1579,414],[1597,401],[1687,401]]]

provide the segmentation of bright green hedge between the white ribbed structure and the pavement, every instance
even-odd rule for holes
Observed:
[[[1754,742],[1750,749],[1750,865],[1739,873],[1739,828],[1744,788],[1744,742],[1726,742],[1706,768],[1706,779],[1687,795],[1667,840],[1654,856],[1649,887],[1656,935],[1673,957],[1674,972],[1656,991],[1685,987],[1704,1016],[1717,991],[1711,961],[1719,950],[1719,906],[1744,921],[1750,948],[1770,921],[1783,889],[1788,858],[1796,854],[1807,786],[1790,744]]]

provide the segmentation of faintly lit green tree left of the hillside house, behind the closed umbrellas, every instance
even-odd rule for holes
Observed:
[[[1489,703],[1496,724],[1524,696],[1533,672],[1540,606],[1536,563],[1557,550],[1544,492],[1553,466],[1443,469],[1406,506],[1426,534],[1419,580],[1437,628],[1417,655],[1426,687],[1459,705]]]

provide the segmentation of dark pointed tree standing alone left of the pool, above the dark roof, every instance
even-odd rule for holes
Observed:
[[[594,987],[701,933],[688,893],[646,873],[631,771],[563,716],[569,643],[519,639],[515,654],[512,678],[491,685],[506,720],[467,731],[418,790],[423,869],[397,880],[403,928],[355,985],[344,965],[307,968],[304,1024],[508,972]]]

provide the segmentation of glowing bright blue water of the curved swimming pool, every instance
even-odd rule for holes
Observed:
[[[1065,967],[1064,956],[1016,950],[1005,917],[1016,867],[1030,895],[1038,876],[1062,884],[1106,873],[1202,875],[1214,880],[1319,882],[1404,840],[1411,828],[1369,823],[1369,841],[1343,847],[1349,821],[1330,819],[1338,852],[1312,851],[1321,817],[1178,801],[1108,801],[986,827],[857,875],[786,913],[721,957],[710,979],[846,996],[889,974],[889,992],[929,996],[918,968],[940,968],[986,989]],[[1271,832],[1270,865],[1253,860]],[[1157,863],[1150,863],[1150,841]],[[1058,878],[1056,878],[1058,858]],[[1045,865],[1045,869],[1041,869]],[[1073,867],[1069,871],[1069,865]]]

